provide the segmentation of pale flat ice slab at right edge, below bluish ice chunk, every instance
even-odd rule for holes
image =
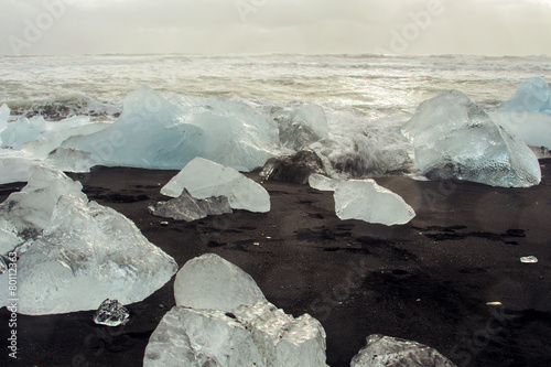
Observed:
[[[538,112],[488,114],[497,125],[519,137],[530,147],[551,149],[551,116]]]

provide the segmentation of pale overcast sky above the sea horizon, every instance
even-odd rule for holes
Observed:
[[[551,55],[551,0],[0,0],[0,54]]]

